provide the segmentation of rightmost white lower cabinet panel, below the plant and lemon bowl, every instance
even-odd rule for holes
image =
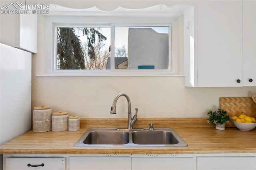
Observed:
[[[255,156],[196,157],[197,170],[255,170]]]

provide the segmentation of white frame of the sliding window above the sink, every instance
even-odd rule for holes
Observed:
[[[110,27],[111,69],[109,70],[57,70],[56,26],[67,27]],[[114,69],[114,26],[169,26],[170,69]],[[46,16],[46,66],[48,76],[173,76],[177,62],[177,19],[166,17],[113,17],[113,16]]]

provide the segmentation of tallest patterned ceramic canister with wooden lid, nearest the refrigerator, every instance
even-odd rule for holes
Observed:
[[[34,107],[33,131],[47,132],[51,130],[52,109],[49,106]]]

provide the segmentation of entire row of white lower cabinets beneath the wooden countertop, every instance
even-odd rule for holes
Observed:
[[[3,170],[256,170],[256,153],[4,154],[3,163]]]

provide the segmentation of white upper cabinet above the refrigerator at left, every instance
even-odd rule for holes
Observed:
[[[37,53],[37,14],[1,14],[0,43]]]

